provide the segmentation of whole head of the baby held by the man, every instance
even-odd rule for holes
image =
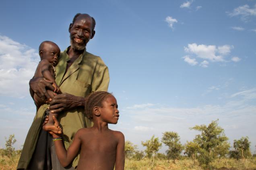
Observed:
[[[43,41],[39,46],[41,60],[46,59],[56,66],[60,57],[60,48],[52,41]]]

